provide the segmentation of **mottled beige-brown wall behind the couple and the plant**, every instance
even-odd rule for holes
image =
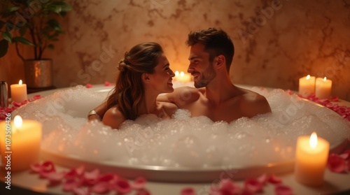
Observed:
[[[172,69],[186,71],[188,32],[217,27],[235,43],[232,82],[297,90],[304,75],[326,76],[332,94],[350,101],[349,0],[69,2],[66,34],[45,53],[54,59],[56,87],[114,82],[123,53],[145,41],[163,45]],[[24,78],[13,46],[0,63],[0,80]]]

